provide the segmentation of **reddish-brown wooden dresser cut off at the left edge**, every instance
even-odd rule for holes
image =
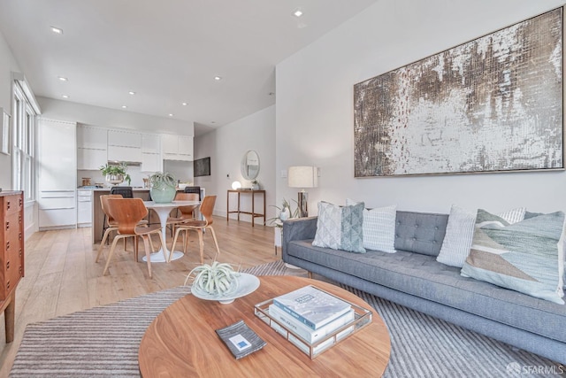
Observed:
[[[11,343],[16,287],[24,276],[24,197],[21,191],[0,192],[0,221],[0,312],[4,311],[6,343]]]

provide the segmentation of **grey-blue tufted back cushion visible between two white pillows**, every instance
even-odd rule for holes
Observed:
[[[447,221],[447,214],[397,211],[395,250],[438,256]]]

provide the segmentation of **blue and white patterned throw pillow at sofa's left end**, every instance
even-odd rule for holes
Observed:
[[[351,206],[319,202],[317,234],[312,245],[365,253],[362,231],[364,207],[363,202]]]

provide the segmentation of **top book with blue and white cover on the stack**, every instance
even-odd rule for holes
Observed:
[[[323,327],[351,309],[348,302],[312,285],[275,297],[273,304],[312,329]]]

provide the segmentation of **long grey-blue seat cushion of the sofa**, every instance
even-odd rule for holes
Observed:
[[[368,282],[470,312],[566,343],[564,306],[460,275],[434,256],[367,251],[353,254],[290,242],[287,253]]]

